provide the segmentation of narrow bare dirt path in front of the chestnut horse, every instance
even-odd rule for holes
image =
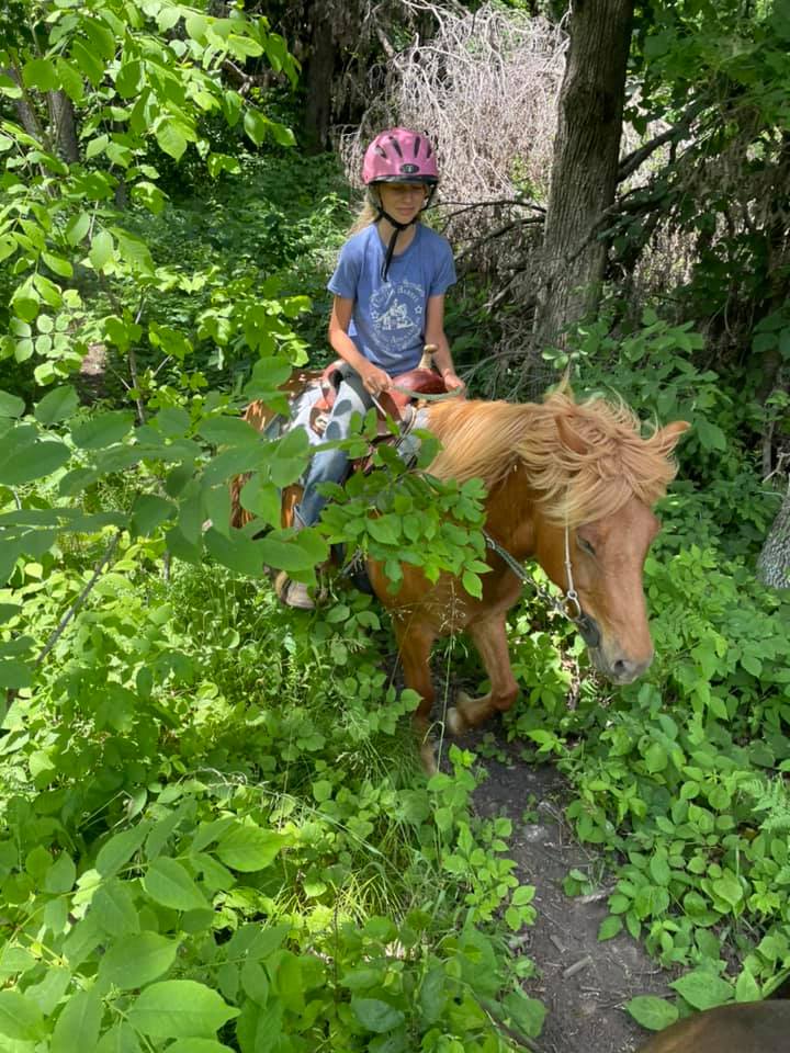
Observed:
[[[459,745],[474,748],[472,736]],[[517,747],[501,741],[496,752],[500,759],[484,762],[488,779],[476,791],[475,806],[482,815],[511,819],[517,876],[537,890],[535,924],[511,943],[534,962],[538,975],[524,989],[549,1010],[535,1051],[633,1053],[650,1033],[629,1016],[625,1003],[635,995],[672,994],[667,982],[673,977],[625,932],[598,940],[613,882],[601,857],[580,846],[564,822],[568,789],[560,772],[528,765]],[[565,895],[563,881],[573,869],[588,873],[597,891]]]

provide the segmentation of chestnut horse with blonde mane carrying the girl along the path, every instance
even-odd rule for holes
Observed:
[[[644,672],[653,644],[642,568],[659,526],[651,509],[675,476],[672,453],[688,427],[676,421],[642,438],[624,405],[577,404],[567,390],[540,405],[469,400],[429,407],[426,428],[442,450],[428,471],[485,482],[485,530],[495,547],[481,599],[451,575],[432,584],[408,564],[393,595],[383,565],[369,562],[373,589],[392,613],[406,684],[422,699],[415,723],[428,770],[435,765],[427,740],[435,700],[429,659],[438,636],[466,631],[490,682],[482,698],[459,695],[448,712],[453,734],[508,710],[518,694],[505,623],[521,593],[512,561],[535,559],[561,589],[574,590],[600,672],[614,683]]]

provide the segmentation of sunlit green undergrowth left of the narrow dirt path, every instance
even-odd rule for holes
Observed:
[[[14,1050],[537,1034],[531,965],[506,943],[533,918],[510,823],[474,815],[472,755],[416,770],[416,699],[381,668],[370,599],[274,616],[260,584],[183,567],[163,584],[156,555],[124,548],[3,723]],[[8,627],[37,648],[84,574],[29,564],[0,597]]]

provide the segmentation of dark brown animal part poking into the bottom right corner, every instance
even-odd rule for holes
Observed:
[[[707,1009],[654,1035],[637,1053],[790,1053],[790,1001]]]

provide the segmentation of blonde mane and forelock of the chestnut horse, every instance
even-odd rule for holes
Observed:
[[[560,418],[586,452],[563,441]],[[631,497],[652,507],[677,471],[673,443],[658,430],[643,438],[623,403],[576,403],[562,389],[542,404],[439,403],[428,411],[427,428],[442,443],[431,475],[482,478],[492,491],[523,465],[543,514],[571,526],[611,516]]]

